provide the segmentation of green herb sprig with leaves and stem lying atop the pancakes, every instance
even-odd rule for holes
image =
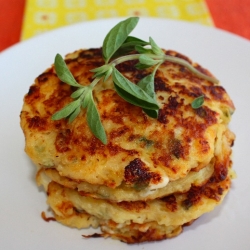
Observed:
[[[93,89],[101,80],[105,82],[109,77],[112,77],[118,95],[127,102],[141,107],[144,112],[152,118],[157,118],[159,111],[159,105],[154,91],[154,78],[158,67],[163,62],[170,61],[178,63],[185,66],[197,76],[213,83],[218,83],[216,79],[204,75],[187,61],[165,55],[151,37],[149,41],[146,42],[139,38],[129,36],[138,21],[138,17],[130,17],[121,21],[109,31],[102,46],[102,56],[105,63],[103,66],[91,70],[94,76],[93,81],[88,86],[79,84],[71,74],[62,56],[59,54],[56,55],[54,65],[58,78],[62,82],[77,87],[78,89],[71,95],[75,100],[56,112],[52,116],[52,120],[67,118],[69,122],[72,122],[79,115],[81,108],[86,109],[87,123],[90,130],[102,143],[107,144],[107,136],[93,97]],[[129,52],[135,50],[137,51],[136,54],[129,54]],[[130,60],[138,60],[136,64],[137,69],[154,67],[154,70],[137,84],[134,84],[116,69],[118,64]],[[193,108],[198,108],[203,102],[204,97],[202,96],[196,98],[191,105]]]

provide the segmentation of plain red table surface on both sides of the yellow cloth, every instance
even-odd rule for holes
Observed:
[[[25,0],[0,0],[0,51],[21,40]],[[250,0],[205,0],[214,26],[250,39]]]

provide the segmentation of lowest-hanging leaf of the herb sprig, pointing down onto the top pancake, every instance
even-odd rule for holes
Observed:
[[[89,91],[85,97],[88,100],[87,106],[87,123],[91,132],[98,138],[103,144],[107,144],[107,136],[104,127],[101,122],[98,110],[96,108],[92,92]]]

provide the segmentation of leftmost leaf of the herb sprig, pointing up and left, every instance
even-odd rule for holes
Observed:
[[[69,71],[67,64],[63,60],[60,54],[57,54],[55,57],[55,70],[58,78],[71,86],[74,87],[82,87],[77,81],[75,80],[74,76]]]

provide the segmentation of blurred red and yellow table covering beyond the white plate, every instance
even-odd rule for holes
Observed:
[[[250,39],[250,0],[0,0],[0,52],[58,27],[135,15],[196,22]]]

